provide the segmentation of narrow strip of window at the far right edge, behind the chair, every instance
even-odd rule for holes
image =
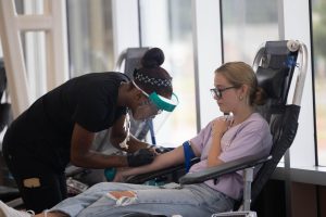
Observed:
[[[312,1],[313,76],[318,164],[326,166],[326,2]]]

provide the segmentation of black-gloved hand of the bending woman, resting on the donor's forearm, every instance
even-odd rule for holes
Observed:
[[[155,155],[156,154],[150,149],[140,149],[137,152],[127,155],[128,166],[136,167],[150,164],[154,159]]]

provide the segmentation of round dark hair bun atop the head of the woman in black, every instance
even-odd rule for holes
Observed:
[[[141,59],[141,65],[142,67],[159,67],[163,64],[165,60],[164,53],[159,48],[152,48],[148,50],[142,59]]]

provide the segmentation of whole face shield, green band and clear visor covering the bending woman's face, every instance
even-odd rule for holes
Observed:
[[[171,99],[159,95],[156,92],[148,94],[141,88],[139,88],[133,80],[134,86],[140,90],[148,100],[142,102],[133,113],[135,119],[147,119],[152,118],[155,115],[162,113],[162,111],[173,112],[178,104],[178,98],[175,93],[172,94]]]

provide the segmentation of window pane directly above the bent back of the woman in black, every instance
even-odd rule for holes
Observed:
[[[70,74],[114,69],[112,3],[108,0],[68,0]]]

